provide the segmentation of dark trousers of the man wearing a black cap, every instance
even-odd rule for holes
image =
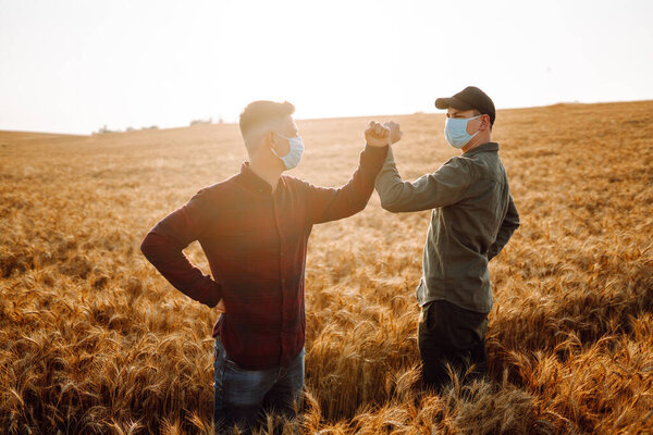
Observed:
[[[470,376],[483,376],[488,372],[486,330],[488,313],[469,311],[445,300],[426,303],[418,327],[424,386],[441,390],[448,384],[447,364],[459,376],[473,364]]]

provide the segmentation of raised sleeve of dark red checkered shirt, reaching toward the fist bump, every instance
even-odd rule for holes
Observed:
[[[383,165],[386,153],[387,146],[366,146],[360,153],[360,161],[354,175],[340,188],[306,183],[311,223],[336,221],[364,210],[374,191],[374,178]]]

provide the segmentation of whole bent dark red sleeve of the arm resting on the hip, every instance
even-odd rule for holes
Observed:
[[[199,239],[212,220],[207,197],[208,192],[202,189],[165,216],[145,236],[140,251],[177,290],[212,308],[220,301],[220,285],[190,263],[183,252],[192,241]]]

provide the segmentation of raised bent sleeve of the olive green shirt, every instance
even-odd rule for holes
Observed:
[[[446,207],[461,200],[471,185],[471,173],[464,159],[453,158],[432,174],[404,182],[392,149],[375,181],[381,207],[393,213]]]

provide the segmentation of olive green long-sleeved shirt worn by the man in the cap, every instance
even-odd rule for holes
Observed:
[[[375,187],[381,206],[393,213],[433,209],[417,287],[419,304],[446,300],[490,312],[488,261],[519,226],[498,144],[480,145],[412,183],[402,181],[391,149]]]

